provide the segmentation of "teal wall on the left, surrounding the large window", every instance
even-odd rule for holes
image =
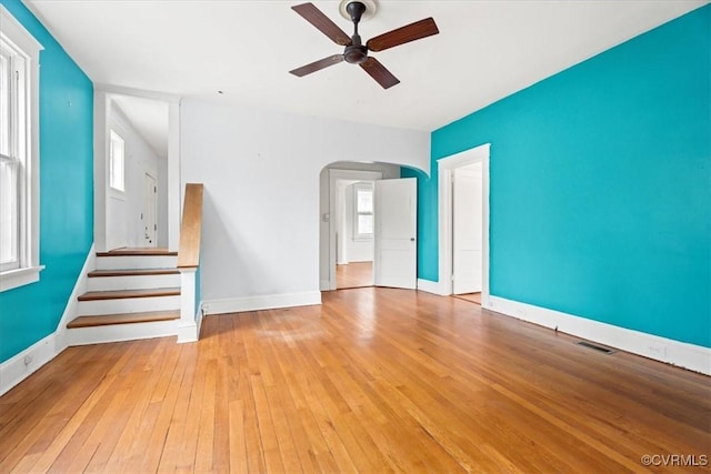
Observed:
[[[0,293],[0,362],[57,330],[93,235],[93,87],[19,0],[40,53],[40,281]]]

